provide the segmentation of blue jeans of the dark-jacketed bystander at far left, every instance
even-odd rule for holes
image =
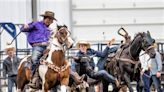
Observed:
[[[15,76],[12,76],[12,77],[8,77],[8,92],[13,92],[12,89],[13,89],[13,86],[17,86],[16,85],[16,75]]]

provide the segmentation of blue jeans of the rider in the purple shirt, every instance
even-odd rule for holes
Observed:
[[[43,51],[47,48],[47,46],[34,46],[32,48],[32,75],[34,75],[36,68],[39,66],[39,59],[43,55]]]

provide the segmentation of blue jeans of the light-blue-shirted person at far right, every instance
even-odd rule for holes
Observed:
[[[154,83],[157,92],[162,92],[160,78],[157,78],[156,75],[152,75],[150,84],[152,84],[152,82]]]

